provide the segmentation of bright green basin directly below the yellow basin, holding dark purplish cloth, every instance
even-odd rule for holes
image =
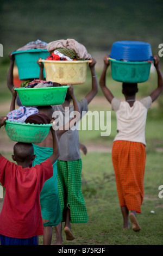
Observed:
[[[49,106],[64,103],[69,86],[15,88],[23,106]]]

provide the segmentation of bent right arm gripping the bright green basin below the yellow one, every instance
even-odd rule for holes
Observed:
[[[76,99],[76,96],[74,95],[74,92],[73,92],[73,87],[71,84],[67,84],[67,85],[70,86],[70,88],[68,88],[68,90],[69,90],[69,94],[71,95],[72,101],[73,101],[74,117],[70,121],[68,121],[64,126],[59,127],[59,129],[57,130],[57,136],[58,136],[59,141],[60,141],[61,135],[64,134],[66,131],[70,130],[80,120],[80,109],[78,106],[78,101]]]

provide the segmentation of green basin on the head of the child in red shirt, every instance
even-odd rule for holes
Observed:
[[[46,138],[52,124],[29,124],[5,121],[5,131],[12,141],[40,143]]]

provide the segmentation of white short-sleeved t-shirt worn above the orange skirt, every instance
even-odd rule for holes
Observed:
[[[132,107],[127,101],[120,101],[114,97],[111,107],[116,112],[118,132],[114,141],[133,141],[146,145],[145,126],[147,111],[151,104],[151,96],[136,100]]]

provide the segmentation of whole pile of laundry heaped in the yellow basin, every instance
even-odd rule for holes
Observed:
[[[49,42],[47,50],[51,55],[46,60],[87,60],[91,58],[85,46],[74,39]]]

